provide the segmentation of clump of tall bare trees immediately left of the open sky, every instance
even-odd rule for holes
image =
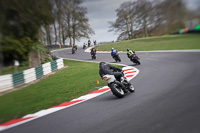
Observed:
[[[51,1],[54,24],[50,27],[54,29],[55,34],[51,37],[55,38],[55,44],[57,40],[60,44],[65,44],[65,41],[69,39],[69,45],[72,46],[75,40],[89,38],[89,35],[94,34],[85,16],[87,9],[82,7],[81,3],[82,0]]]

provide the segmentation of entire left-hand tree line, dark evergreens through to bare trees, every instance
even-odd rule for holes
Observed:
[[[87,9],[82,0],[0,0],[1,66],[29,60],[31,67],[48,58],[46,45],[89,38]],[[33,60],[38,60],[34,64]]]

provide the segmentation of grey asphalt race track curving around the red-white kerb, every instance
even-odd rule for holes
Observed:
[[[91,60],[78,49],[54,51],[63,58]],[[111,92],[2,131],[3,133],[199,133],[200,52],[138,52],[136,91],[118,99]],[[114,62],[110,54],[95,61]]]

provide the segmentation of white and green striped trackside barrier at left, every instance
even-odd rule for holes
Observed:
[[[27,69],[23,72],[2,75],[0,76],[0,92],[8,91],[13,88],[30,83],[36,79],[43,77],[44,75],[47,75],[63,67],[63,59],[57,59],[36,68]]]

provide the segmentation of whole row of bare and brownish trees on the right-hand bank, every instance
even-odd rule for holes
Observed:
[[[117,19],[109,22],[119,40],[171,34],[185,27],[185,21],[199,18],[183,0],[127,1],[116,9]]]

